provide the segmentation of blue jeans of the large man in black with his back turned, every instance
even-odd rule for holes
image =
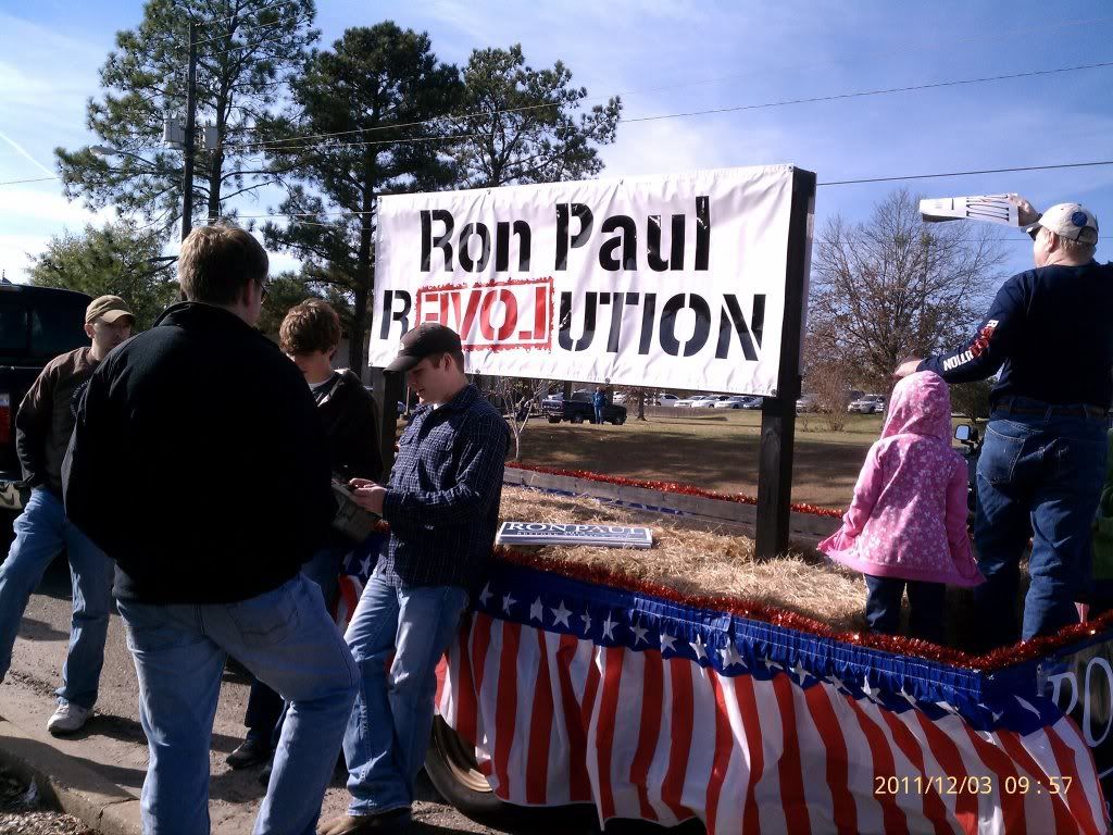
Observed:
[[[312,835],[359,675],[316,584],[297,574],[237,603],[118,608],[150,750],[144,832],[209,831],[209,744],[227,654],[292,703],[255,833]]]

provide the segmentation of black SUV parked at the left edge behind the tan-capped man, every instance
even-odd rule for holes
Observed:
[[[16,412],[43,366],[89,344],[85,293],[0,281],[0,513],[22,509]],[[2,520],[0,524],[7,524]]]

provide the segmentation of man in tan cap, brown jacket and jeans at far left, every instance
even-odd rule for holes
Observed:
[[[16,539],[0,566],[0,680],[11,666],[27,601],[65,549],[73,582],[73,619],[62,686],[57,691],[58,709],[47,723],[56,735],[80,729],[97,700],[112,587],[108,557],[66,517],[62,460],[93,369],[131,335],[134,323],[135,316],[119,296],[95,298],[85,314],[85,332],[92,344],[51,360],[16,416],[16,445],[31,497],[14,522]]]

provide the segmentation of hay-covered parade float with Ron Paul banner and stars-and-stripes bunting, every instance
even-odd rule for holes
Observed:
[[[1110,617],[983,656],[871,636],[860,578],[808,553],[838,524],[789,499],[814,194],[776,166],[382,198],[373,366],[437,321],[470,372],[765,396],[754,498],[508,468],[504,520],[650,525],[653,547],[496,547],[426,760],[462,811],[1107,831]]]

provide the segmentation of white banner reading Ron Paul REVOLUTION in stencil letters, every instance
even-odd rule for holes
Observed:
[[[772,394],[791,193],[769,166],[383,197],[371,364],[441,322],[469,372]]]

